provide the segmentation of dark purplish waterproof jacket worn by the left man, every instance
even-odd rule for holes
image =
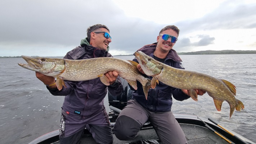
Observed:
[[[82,44],[81,42],[81,46],[69,51],[64,59],[90,59],[98,57],[112,57],[112,55],[105,50]],[[67,88],[63,86],[60,91],[47,88],[53,95],[65,96],[62,109],[70,115],[90,116],[96,110],[103,109],[107,87],[112,95],[119,95],[122,92],[120,78],[117,78],[117,81],[110,86],[104,85],[100,78],[88,81],[64,82]]]

